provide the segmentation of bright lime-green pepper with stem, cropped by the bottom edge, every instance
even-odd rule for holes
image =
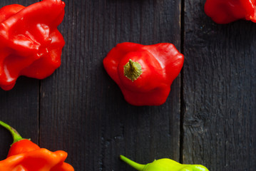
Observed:
[[[209,171],[203,165],[184,165],[168,158],[155,160],[147,165],[141,165],[137,162],[120,155],[121,160],[139,171]]]

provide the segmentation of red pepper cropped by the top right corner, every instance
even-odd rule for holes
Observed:
[[[227,24],[238,19],[256,22],[255,0],[207,0],[205,14],[217,24]]]

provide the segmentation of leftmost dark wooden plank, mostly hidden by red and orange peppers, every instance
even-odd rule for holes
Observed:
[[[1,0],[0,7],[9,4],[28,6],[34,0]],[[0,120],[12,125],[24,138],[39,142],[39,81],[21,77],[12,90],[0,90]],[[11,134],[0,128],[0,160],[6,158],[12,143]]]

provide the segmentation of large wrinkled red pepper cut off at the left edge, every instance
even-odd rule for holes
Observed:
[[[0,9],[0,87],[11,90],[19,76],[43,79],[61,65],[65,44],[57,26],[65,3],[43,0]]]

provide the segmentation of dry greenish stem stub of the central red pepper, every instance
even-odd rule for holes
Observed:
[[[123,66],[123,74],[126,76],[129,80],[135,81],[139,76],[141,75],[142,70],[140,63],[134,62],[131,59],[129,59],[129,62],[126,63],[125,66]]]

